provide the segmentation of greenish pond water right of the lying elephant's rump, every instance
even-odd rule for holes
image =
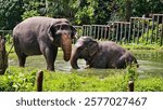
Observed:
[[[163,51],[133,51],[140,67],[138,72],[163,77]]]

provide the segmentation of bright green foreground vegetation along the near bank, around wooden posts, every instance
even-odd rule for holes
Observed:
[[[51,92],[127,92],[128,80],[135,79],[136,92],[163,92],[162,78],[138,79],[134,68],[126,72],[109,74],[101,79],[95,75],[49,72],[43,70],[43,91]],[[10,67],[4,75],[0,75],[0,91],[34,92],[36,91],[36,73],[34,68]]]

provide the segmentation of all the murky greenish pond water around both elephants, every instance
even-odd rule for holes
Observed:
[[[163,77],[163,51],[131,51],[136,56],[139,63],[138,72],[141,77],[151,75],[161,75]],[[17,66],[17,58],[9,56],[9,65]],[[79,59],[78,65],[82,69],[74,70],[72,69],[70,63],[63,60],[62,51],[59,52],[57,60],[55,60],[55,71],[66,71],[67,73],[77,72],[85,73],[85,75],[100,75],[104,77],[108,74],[112,74],[118,71],[125,70],[115,70],[115,69],[84,69],[85,60]],[[46,60],[43,56],[30,56],[27,57],[26,61],[27,67],[35,67],[38,69],[46,69]]]

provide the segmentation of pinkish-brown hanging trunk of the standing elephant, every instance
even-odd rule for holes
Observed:
[[[72,53],[72,39],[68,35],[63,33],[61,37],[61,47],[63,50],[63,58],[68,61]]]

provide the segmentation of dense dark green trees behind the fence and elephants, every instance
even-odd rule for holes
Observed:
[[[108,24],[129,16],[163,13],[162,0],[0,0],[0,29],[36,15],[66,17],[74,25]]]

